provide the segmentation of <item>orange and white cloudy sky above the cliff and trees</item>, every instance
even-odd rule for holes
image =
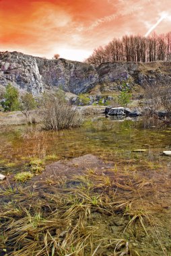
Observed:
[[[83,61],[125,34],[143,34],[161,16],[171,31],[171,0],[0,0],[0,51]]]

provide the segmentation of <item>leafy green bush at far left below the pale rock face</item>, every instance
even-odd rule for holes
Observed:
[[[5,111],[20,110],[19,92],[15,87],[11,86],[11,84],[8,84],[6,87],[4,99],[1,105]]]

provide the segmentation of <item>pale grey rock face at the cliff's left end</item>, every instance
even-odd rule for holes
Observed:
[[[0,53],[0,84],[11,83],[21,91],[38,95],[44,91],[36,59],[22,53]]]

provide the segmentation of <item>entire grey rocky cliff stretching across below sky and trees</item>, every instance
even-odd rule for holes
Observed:
[[[119,90],[123,81],[130,86],[171,82],[171,63],[102,63],[94,67],[66,59],[44,59],[18,52],[0,53],[0,85],[11,83],[20,91],[38,95],[44,90],[62,88],[65,92]]]

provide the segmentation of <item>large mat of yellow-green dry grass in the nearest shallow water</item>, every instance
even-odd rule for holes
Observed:
[[[1,191],[11,202],[0,208],[1,247],[7,255],[139,255],[133,229],[140,224],[143,237],[153,237],[144,203],[151,184],[132,174],[116,177],[113,171],[106,175],[91,169],[69,180],[39,182],[36,189],[17,191],[12,195],[15,203]],[[119,224],[113,233],[114,220]]]

